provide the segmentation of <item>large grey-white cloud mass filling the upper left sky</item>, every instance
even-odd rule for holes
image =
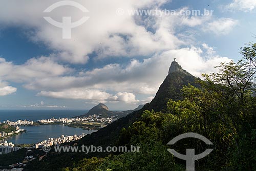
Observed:
[[[49,24],[43,17],[50,15],[55,20],[61,20],[65,14],[72,16],[72,20],[79,20],[84,14],[68,6],[59,7],[50,14],[42,12],[55,2],[58,1],[2,2],[0,22],[5,26],[23,27],[32,41],[44,42],[50,49],[60,52],[55,55],[57,59],[72,63],[86,63],[89,59],[88,54],[93,52],[97,52],[101,57],[110,55],[129,57],[147,55],[178,45],[177,39],[163,37],[162,32],[159,31],[164,28],[156,28],[159,31],[155,34],[146,32],[145,27],[138,24],[141,23],[139,17],[135,18],[127,13],[122,16],[116,14],[119,8],[124,11],[155,8],[167,0],[145,0],[139,3],[119,0],[77,1],[90,11],[86,14],[90,19],[72,30],[72,39],[62,39],[62,30]],[[168,29],[165,29],[165,32],[169,32]],[[169,34],[171,35],[172,32]],[[175,38],[174,35],[172,37]]]

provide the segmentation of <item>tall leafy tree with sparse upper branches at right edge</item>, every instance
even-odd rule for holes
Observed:
[[[241,48],[243,58],[237,63],[221,63],[218,73],[203,74],[202,88],[219,104],[216,113],[232,133],[230,147],[233,166],[238,170],[255,170],[256,129],[256,44]]]

